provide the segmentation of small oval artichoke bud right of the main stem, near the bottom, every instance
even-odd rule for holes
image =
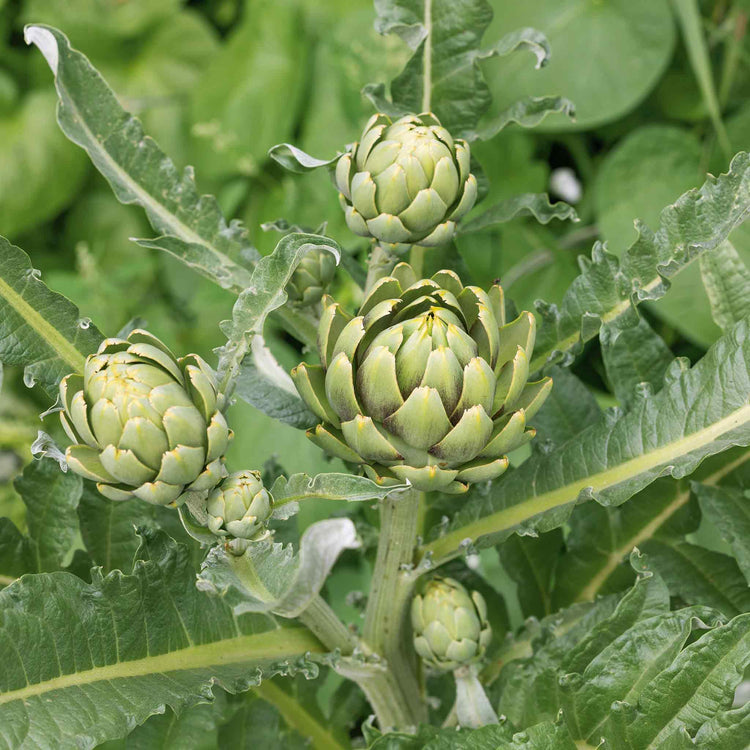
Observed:
[[[416,652],[445,671],[479,661],[492,640],[484,598],[452,578],[433,578],[414,597],[411,624]]]

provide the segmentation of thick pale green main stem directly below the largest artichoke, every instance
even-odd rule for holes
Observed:
[[[380,506],[380,538],[362,638],[386,661],[399,715],[378,713],[382,728],[405,729],[426,719],[411,644],[409,611],[416,576],[412,569],[421,493],[409,490]]]

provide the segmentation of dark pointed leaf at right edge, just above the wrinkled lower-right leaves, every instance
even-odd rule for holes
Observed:
[[[750,612],[750,588],[733,557],[679,539],[650,539],[641,550],[672,596],[735,617]]]

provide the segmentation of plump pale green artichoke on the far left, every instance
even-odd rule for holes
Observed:
[[[105,339],[83,375],[60,383],[68,466],[111,500],[179,504],[227,474],[231,438],[224,397],[206,362],[176,358],[155,336],[135,330]]]

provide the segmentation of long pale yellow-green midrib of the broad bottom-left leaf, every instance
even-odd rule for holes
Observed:
[[[43,682],[0,693],[0,705],[39,697],[54,690],[79,688],[97,682],[287,659],[306,652],[324,652],[323,647],[310,631],[301,627],[277,628],[265,633],[239,636],[200,646],[189,646],[167,654],[146,656],[53,677]]]

